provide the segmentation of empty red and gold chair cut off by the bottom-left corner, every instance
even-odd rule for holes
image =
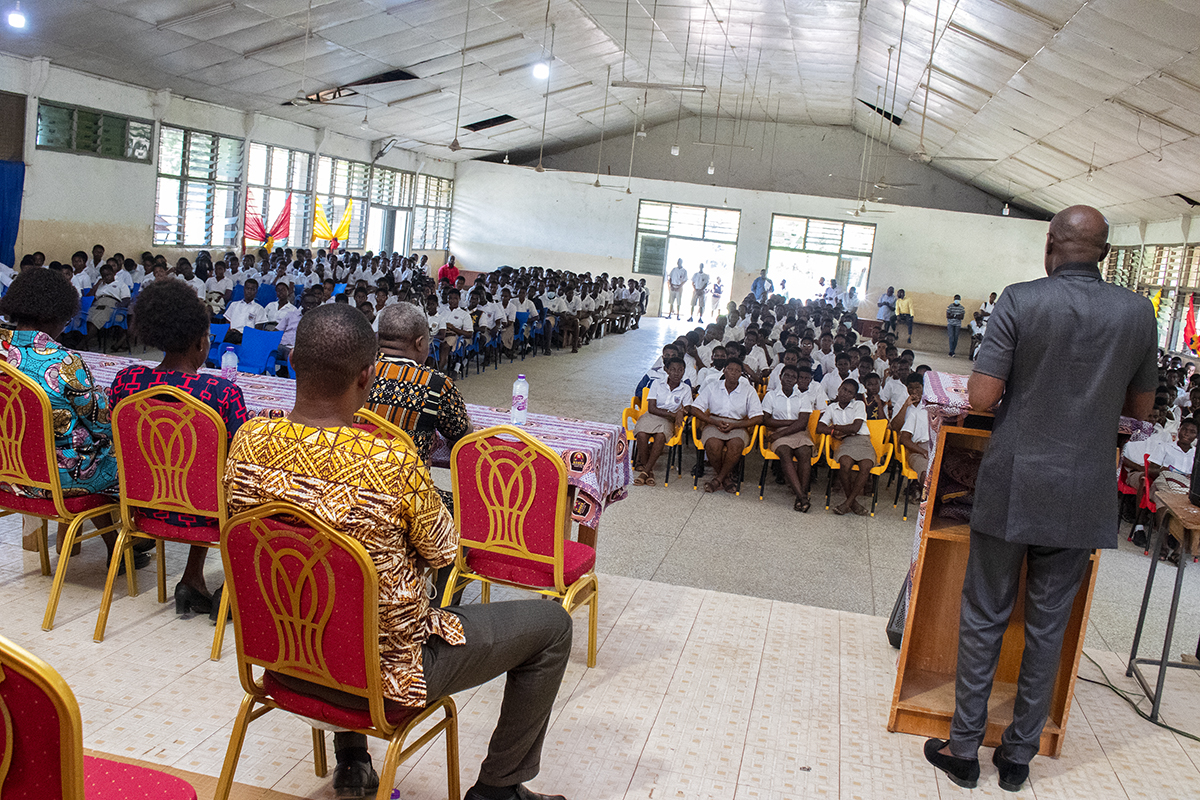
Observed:
[[[182,778],[83,754],[83,720],[62,676],[0,637],[0,792],[55,800],[196,800]]]

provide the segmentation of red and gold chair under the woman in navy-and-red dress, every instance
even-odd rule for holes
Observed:
[[[167,560],[163,542],[221,546],[221,525],[229,518],[222,486],[229,434],[220,414],[175,386],[152,386],[130,395],[113,408],[112,416],[121,480],[122,528],[116,537],[116,552],[132,547],[134,539],[156,542],[158,602],[164,603]],[[173,525],[146,516],[148,511],[203,517],[215,524]],[[104,640],[115,581],[116,567],[109,566],[92,637],[96,642]],[[229,595],[222,593],[217,630],[212,636],[212,661],[221,658],[228,615]]]

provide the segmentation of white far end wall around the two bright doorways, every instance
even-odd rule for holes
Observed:
[[[593,273],[631,275],[634,231],[641,199],[721,206],[742,211],[731,296],[749,291],[767,264],[772,213],[846,219],[846,203],[804,194],[696,186],[635,178],[631,194],[590,186],[594,175],[535,173],[516,166],[466,162],[455,180],[450,248],[463,267],[540,264]],[[944,324],[954,294],[968,307],[990,291],[1044,273],[1046,223],[978,213],[882,206],[876,223],[868,284],[874,301],[888,285],[913,297],[918,321]],[[654,284],[658,285],[654,285]],[[661,279],[654,288],[652,307]]]

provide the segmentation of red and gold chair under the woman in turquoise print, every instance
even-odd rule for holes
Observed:
[[[0,361],[0,486],[7,483],[42,489],[50,495],[49,499],[40,500],[0,491],[0,517],[23,513],[42,521],[42,531],[37,539],[42,575],[50,573],[49,523],[67,525],[66,535],[59,542],[59,564],[42,620],[42,627],[49,631],[54,627],[54,614],[76,543],[120,527],[120,523],[113,523],[83,534],[83,524],[107,513],[115,518],[120,506],[103,494],[62,495],[62,480],[54,452],[50,398],[46,390],[19,369]],[[116,559],[113,563],[116,564]],[[136,595],[138,584],[132,553],[125,557],[125,576],[130,594]]]

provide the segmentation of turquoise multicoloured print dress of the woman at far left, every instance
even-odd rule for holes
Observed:
[[[64,495],[116,495],[116,459],[108,395],[97,389],[78,353],[41,331],[0,330],[0,355],[34,379],[50,398],[54,451]],[[10,485],[24,497],[47,498],[44,489]]]

